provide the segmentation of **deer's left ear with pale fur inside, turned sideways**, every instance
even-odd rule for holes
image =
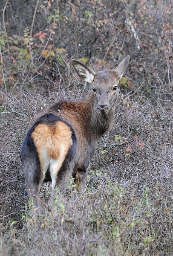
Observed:
[[[76,60],[72,60],[72,64],[79,77],[81,77],[82,79],[84,79],[84,81],[88,83],[93,82],[95,75],[95,72],[93,70]]]

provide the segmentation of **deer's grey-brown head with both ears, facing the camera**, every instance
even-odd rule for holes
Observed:
[[[121,80],[128,64],[130,56],[121,61],[114,70],[104,70],[95,73],[83,63],[73,60],[73,66],[78,76],[84,81],[92,83],[92,90],[97,102],[98,112],[102,115],[108,113],[118,97],[118,83]]]

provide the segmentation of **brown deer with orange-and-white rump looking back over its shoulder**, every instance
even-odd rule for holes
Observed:
[[[130,56],[113,70],[95,73],[77,60],[72,60],[78,76],[92,83],[84,99],[61,100],[39,113],[29,125],[20,151],[26,190],[34,207],[41,209],[40,185],[52,181],[54,189],[64,194],[70,177],[76,191],[83,193],[87,172],[99,139],[112,127],[118,99],[118,84],[129,64]]]

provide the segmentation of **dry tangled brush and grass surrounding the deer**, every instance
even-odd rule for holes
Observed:
[[[0,3],[0,255],[173,255],[173,1],[16,0]],[[72,181],[58,212],[34,217],[20,148],[32,118],[90,90],[93,70],[130,64],[112,131],[86,192]],[[46,203],[51,186],[41,188]]]

